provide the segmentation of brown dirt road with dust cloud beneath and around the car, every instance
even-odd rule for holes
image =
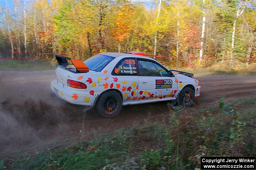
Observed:
[[[79,138],[82,133],[84,106],[51,97],[50,82],[54,71],[1,71],[0,158],[22,148],[36,148],[56,141]],[[204,75],[195,76],[201,85],[201,96],[190,111],[217,105],[223,96],[226,101],[256,94],[255,76]],[[89,108],[87,108],[89,109]],[[115,131],[145,120],[165,121],[170,111],[167,102],[125,106],[115,118],[106,119],[87,111],[84,135]]]

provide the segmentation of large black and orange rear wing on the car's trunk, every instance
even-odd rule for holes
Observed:
[[[62,56],[62,55],[58,55],[58,54],[55,54],[55,58],[58,62],[58,65],[66,70],[72,71],[74,73],[89,72],[88,66],[86,64],[84,64],[83,61],[81,61],[81,60],[77,60],[74,58],[70,58],[70,57],[66,57],[66,56]],[[71,60],[72,64],[76,67],[76,69],[68,68],[67,60]]]

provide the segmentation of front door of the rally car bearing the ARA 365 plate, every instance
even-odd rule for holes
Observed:
[[[138,59],[138,100],[172,100],[177,92],[175,77],[155,61]]]

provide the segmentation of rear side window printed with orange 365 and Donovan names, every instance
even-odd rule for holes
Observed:
[[[116,75],[137,75],[135,58],[125,58],[114,68]]]

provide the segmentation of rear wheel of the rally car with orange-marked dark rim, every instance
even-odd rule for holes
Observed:
[[[96,112],[104,118],[116,116],[123,104],[123,99],[116,91],[106,91],[101,94],[96,102]]]

